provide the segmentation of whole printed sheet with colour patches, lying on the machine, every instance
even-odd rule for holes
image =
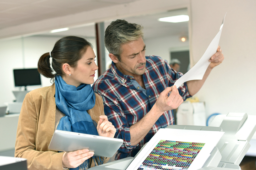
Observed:
[[[159,129],[126,170],[198,170],[224,132]]]

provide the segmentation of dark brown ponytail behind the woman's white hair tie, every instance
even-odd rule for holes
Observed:
[[[37,70],[40,74],[47,78],[53,78],[55,75],[52,73],[53,70],[50,65],[50,54],[49,52],[44,53],[37,63]]]

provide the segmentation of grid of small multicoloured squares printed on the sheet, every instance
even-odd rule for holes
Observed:
[[[187,170],[204,143],[160,140],[138,170]]]

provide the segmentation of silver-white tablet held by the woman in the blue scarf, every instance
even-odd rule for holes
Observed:
[[[49,149],[65,152],[89,149],[89,151],[94,152],[95,156],[110,158],[122,144],[123,139],[55,130],[49,144]]]

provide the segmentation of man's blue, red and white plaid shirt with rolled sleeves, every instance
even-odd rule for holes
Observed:
[[[104,112],[117,129],[115,138],[123,139],[123,145],[118,149],[116,160],[135,156],[158,129],[174,123],[172,111],[166,111],[139,144],[132,146],[130,143],[130,126],[143,118],[155,104],[159,94],[165,88],[173,86],[174,82],[182,76],[182,73],[172,70],[167,61],[160,57],[146,56],[146,61],[146,70],[143,74],[146,89],[140,87],[133,76],[124,75],[117,70],[113,62],[111,68],[104,72],[92,86],[94,91],[102,96]],[[183,100],[191,97],[186,82],[178,90]]]

